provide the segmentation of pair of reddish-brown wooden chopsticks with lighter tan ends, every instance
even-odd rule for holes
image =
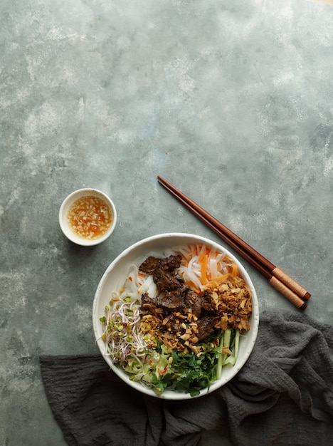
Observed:
[[[307,292],[294,279],[285,274],[280,268],[277,268],[268,259],[250,247],[243,239],[228,229],[224,224],[218,221],[211,214],[206,212],[199,204],[192,199],[186,197],[181,191],[176,189],[171,183],[158,176],[158,182],[171,195],[176,197],[184,206],[189,209],[201,222],[206,224],[213,232],[215,232],[224,242],[226,242],[234,251],[242,256],[249,264],[251,264],[260,274],[268,279],[275,289],[280,291],[292,304],[297,308],[305,309],[307,304],[302,299],[310,299],[311,294]]]

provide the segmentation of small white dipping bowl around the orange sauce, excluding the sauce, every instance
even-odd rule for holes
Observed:
[[[110,208],[110,212],[112,215],[112,222],[110,224],[109,229],[107,229],[107,232],[105,232],[105,234],[102,234],[100,237],[96,237],[94,239],[80,237],[73,231],[73,229],[70,227],[70,224],[68,223],[68,211],[70,210],[72,204],[74,204],[76,200],[88,196],[98,197],[102,199],[102,201],[104,201]],[[117,211],[115,208],[115,204],[112,202],[112,199],[110,199],[110,197],[107,197],[107,195],[105,195],[104,192],[100,192],[100,190],[97,189],[85,188],[85,189],[75,190],[75,192],[72,192],[70,195],[68,195],[68,197],[64,199],[63,203],[60,206],[59,224],[61,230],[63,231],[63,234],[65,234],[65,236],[71,242],[79,244],[83,247],[92,247],[96,244],[104,242],[108,237],[110,237],[110,235],[114,231],[116,223],[117,223]]]

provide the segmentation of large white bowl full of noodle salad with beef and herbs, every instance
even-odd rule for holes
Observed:
[[[258,301],[238,259],[193,234],[132,245],[97,287],[93,326],[110,368],[133,388],[165,399],[206,395],[250,356]]]

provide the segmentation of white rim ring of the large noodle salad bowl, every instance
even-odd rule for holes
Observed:
[[[238,269],[240,270],[243,279],[245,280],[246,284],[250,287],[251,290],[251,301],[252,301],[252,316],[251,316],[251,324],[250,324],[250,331],[245,333],[245,336],[250,336],[250,339],[248,341],[248,346],[246,348],[246,351],[242,357],[238,356],[238,360],[236,364],[230,368],[231,373],[229,373],[226,377],[221,377],[220,380],[214,381],[210,388],[205,388],[201,390],[200,395],[196,395],[194,397],[191,397],[191,395],[187,393],[180,393],[180,392],[174,392],[172,390],[164,390],[164,393],[158,394],[154,392],[151,388],[145,388],[144,385],[142,385],[139,382],[134,382],[132,380],[129,380],[128,375],[124,371],[122,371],[120,368],[117,368],[115,364],[112,363],[110,360],[110,357],[107,356],[107,353],[105,351],[105,343],[102,341],[100,331],[98,328],[101,327],[100,325],[100,317],[102,314],[97,314],[97,306],[99,304],[100,299],[102,299],[102,289],[103,286],[107,283],[107,279],[109,278],[110,272],[112,269],[114,269],[117,264],[119,264],[121,261],[123,261],[126,256],[140,247],[144,247],[149,243],[161,241],[162,239],[179,239],[179,244],[173,243],[171,247],[181,246],[181,239],[182,238],[193,238],[196,242],[203,242],[208,244],[211,247],[216,247],[217,249],[221,249],[222,252],[224,252],[227,256],[229,256],[233,261],[236,262]],[[186,243],[186,242],[185,242]],[[166,249],[166,247],[165,247]],[[149,253],[149,250],[147,251],[147,254]],[[137,258],[139,257],[139,254],[137,254]],[[239,261],[239,259],[231,253],[231,251],[228,251],[225,247],[223,247],[221,244],[218,244],[217,242],[208,239],[207,237],[202,237],[197,234],[191,234],[186,232],[166,232],[161,234],[155,234],[150,237],[146,237],[142,240],[139,240],[138,242],[135,242],[134,244],[130,245],[126,249],[124,249],[111,263],[109,266],[107,266],[107,269],[105,270],[104,274],[102,274],[102,277],[97,285],[97,289],[95,291],[94,301],[93,301],[93,331],[95,336],[95,343],[97,344],[97,347],[100,350],[100,353],[102,355],[102,358],[104,358],[107,365],[110,366],[111,370],[119,376],[127,385],[131,386],[135,390],[138,390],[141,393],[144,393],[146,395],[165,399],[165,400],[186,400],[186,399],[192,399],[192,398],[198,398],[203,395],[208,395],[209,393],[213,392],[214,390],[217,390],[218,388],[221,388],[223,385],[228,383],[234,376],[239,372],[239,370],[243,367],[246,361],[248,361],[248,358],[250,356],[250,353],[253,350],[257,335],[258,335],[258,326],[259,326],[259,306],[258,306],[258,296],[255,291],[255,287],[253,285],[253,281],[250,279],[250,276],[248,274],[248,271],[245,269],[245,266]],[[223,378],[223,379],[222,379]]]

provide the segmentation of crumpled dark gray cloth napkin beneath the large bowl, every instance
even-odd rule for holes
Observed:
[[[194,400],[138,393],[100,355],[41,356],[53,415],[70,446],[199,445],[220,430],[233,445],[333,444],[333,326],[291,311],[260,315],[247,363]]]

